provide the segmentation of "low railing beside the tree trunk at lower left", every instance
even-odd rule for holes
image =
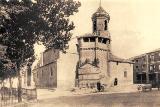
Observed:
[[[22,99],[36,100],[37,90],[22,88]],[[2,87],[0,89],[0,107],[9,106],[18,103],[18,90],[17,88]]]

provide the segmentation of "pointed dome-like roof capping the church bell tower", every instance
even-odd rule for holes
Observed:
[[[99,6],[97,11],[92,15],[92,19],[96,17],[106,17],[110,20],[109,14],[102,8],[102,6]]]

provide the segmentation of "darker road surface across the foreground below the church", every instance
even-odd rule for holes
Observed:
[[[32,107],[160,107],[160,91],[65,96],[38,100]]]

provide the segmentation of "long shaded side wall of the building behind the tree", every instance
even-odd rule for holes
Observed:
[[[37,66],[32,70],[37,88],[57,87],[57,59],[59,50],[50,48],[41,54]]]

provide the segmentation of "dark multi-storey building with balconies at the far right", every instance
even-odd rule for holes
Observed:
[[[134,83],[152,83],[160,81],[160,49],[131,58],[134,62]]]

